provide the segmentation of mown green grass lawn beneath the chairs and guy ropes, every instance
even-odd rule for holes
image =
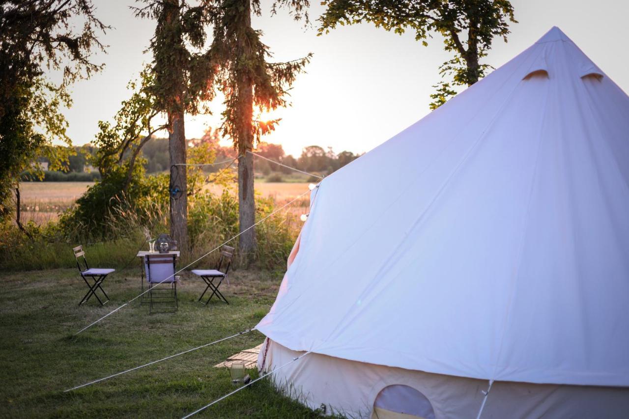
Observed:
[[[81,388],[115,372],[157,360],[253,327],[273,303],[280,279],[235,271],[221,291],[230,304],[203,306],[199,279],[186,274],[177,291],[179,311],[148,315],[138,300],[77,336],[73,333],[139,293],[139,267],[104,282],[104,307],[74,269],[9,272],[0,277],[0,416],[181,417],[235,389],[229,355],[262,343],[251,332],[123,376]],[[257,376],[255,370],[250,371]],[[318,413],[279,394],[263,379],[198,414],[214,418],[316,418]]]

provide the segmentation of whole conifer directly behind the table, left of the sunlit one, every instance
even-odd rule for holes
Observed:
[[[155,82],[152,92],[158,111],[167,115],[170,155],[170,235],[182,249],[187,233],[186,129],[184,115],[208,111],[213,98],[213,61],[203,52],[206,28],[213,8],[210,2],[189,6],[184,0],[145,0],[136,16],[157,22],[150,50]]]

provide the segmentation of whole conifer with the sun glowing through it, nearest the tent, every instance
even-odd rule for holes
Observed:
[[[279,120],[257,121],[254,109],[268,111],[287,106],[287,90],[295,77],[303,72],[311,54],[282,63],[271,63],[269,47],[260,40],[262,32],[251,26],[251,16],[259,16],[259,0],[222,0],[216,4],[214,40],[211,54],[220,66],[216,81],[225,95],[223,134],[228,135],[238,152],[238,203],[240,208],[240,255],[251,262],[255,255],[255,223],[253,195],[253,155],[260,137],[274,130]],[[289,6],[296,19],[308,7],[308,1],[278,0],[272,5]]]

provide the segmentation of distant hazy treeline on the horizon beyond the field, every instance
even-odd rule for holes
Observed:
[[[192,145],[198,140],[190,140]],[[96,181],[101,178],[97,169],[94,169],[89,164],[89,155],[94,153],[94,147],[87,144],[81,147],[74,147],[77,152],[76,155],[70,156],[69,167],[67,172],[50,172],[44,171],[43,181],[48,182],[62,182],[62,181]],[[215,161],[222,161],[227,159],[233,159],[236,157],[236,152],[231,147],[221,147],[216,145],[216,159]],[[360,157],[360,154],[353,154],[352,152],[343,151],[338,154],[333,152],[331,147],[327,149],[318,145],[311,145],[306,147],[301,152],[298,158],[293,157],[290,154],[284,152],[284,148],[280,144],[272,143],[259,143],[255,152],[259,155],[266,157],[267,159],[280,162],[284,165],[294,167],[304,172],[316,173],[328,175],[335,170],[340,169],[344,165],[352,162],[352,160]],[[153,138],[149,140],[144,147],[142,147],[142,157],[145,161],[145,169],[148,173],[159,173],[168,170],[169,168],[169,152],[168,152],[168,139],[167,138]],[[45,159],[39,159],[38,162],[45,163]],[[294,171],[276,165],[271,162],[267,162],[263,159],[255,160],[255,172],[262,176],[270,176],[269,178],[274,181],[281,181],[282,176],[293,174]],[[220,170],[218,166],[208,166],[206,171],[215,172]],[[23,181],[38,180],[33,179],[30,174],[23,174],[21,179]]]

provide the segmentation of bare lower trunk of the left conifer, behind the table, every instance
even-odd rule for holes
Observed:
[[[171,113],[169,120],[170,155],[170,237],[177,240],[179,249],[189,249],[188,199],[186,171],[186,130],[184,113]],[[183,165],[176,165],[183,164]]]

